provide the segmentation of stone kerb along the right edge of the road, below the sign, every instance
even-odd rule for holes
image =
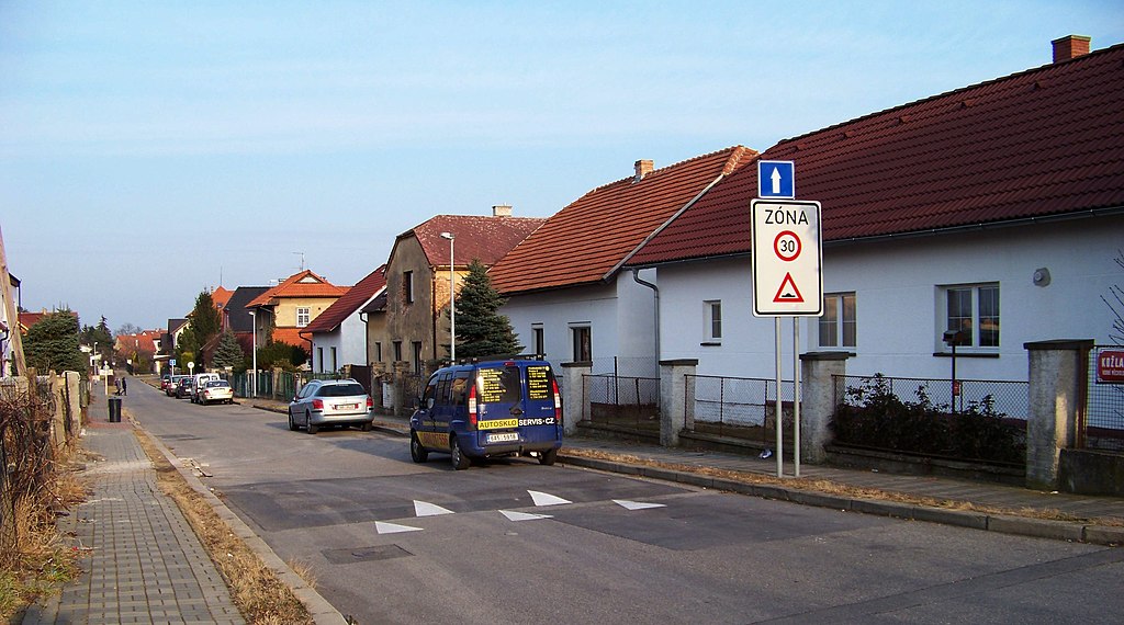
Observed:
[[[1085,542],[1105,546],[1124,545],[1124,527],[1085,525],[1081,523],[1069,523],[1066,521],[1048,521],[1021,516],[989,515],[971,511],[918,506],[916,504],[907,504],[904,502],[853,499],[851,497],[828,495],[826,493],[800,490],[774,485],[746,484],[722,478],[711,478],[709,476],[700,476],[686,471],[627,465],[624,462],[595,458],[581,458],[564,453],[559,454],[559,460],[574,467],[584,467],[587,469],[597,469],[628,476],[640,476],[651,479],[676,481],[679,484],[689,484],[691,486],[700,486],[703,488],[728,490],[741,495],[761,497],[763,499],[777,499],[780,502],[790,502],[806,506],[832,508],[841,512],[872,514],[876,516],[904,518],[906,521],[923,521],[925,523],[940,523],[942,525],[969,527],[972,530],[984,530],[986,532],[1033,536],[1039,539]]]

